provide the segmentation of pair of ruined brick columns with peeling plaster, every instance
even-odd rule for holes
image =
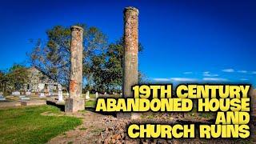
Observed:
[[[82,98],[82,34],[82,27],[71,26],[70,98],[66,101],[66,112],[77,112],[85,107]],[[127,98],[132,97],[131,86],[138,84],[138,10],[134,7],[124,10],[124,46],[122,94]],[[136,117],[136,114],[132,115]]]

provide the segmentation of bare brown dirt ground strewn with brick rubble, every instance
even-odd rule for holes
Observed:
[[[65,114],[82,118],[82,125],[76,127],[74,130],[67,131],[64,134],[60,134],[57,137],[50,140],[48,143],[254,143],[254,136],[251,139],[130,139],[126,135],[126,126],[130,121],[125,119],[114,118],[113,116],[106,116],[102,114],[97,114],[91,111],[83,111],[77,114]],[[171,118],[167,116],[167,122],[178,122],[177,118]],[[150,118],[151,119],[151,118]],[[152,120],[152,119],[151,119]],[[146,121],[143,119],[142,122]],[[161,119],[154,119],[154,122],[161,122]],[[196,120],[198,122],[198,120]],[[139,121],[138,121],[139,122]],[[166,122],[166,120],[163,120]],[[202,119],[202,122],[204,120]],[[195,122],[196,123],[196,122]],[[251,127],[252,135],[255,135],[254,126]]]

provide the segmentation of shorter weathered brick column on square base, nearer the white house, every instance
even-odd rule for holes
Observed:
[[[82,98],[82,34],[82,27],[71,26],[70,97],[66,101],[66,112],[85,109],[85,100]]]

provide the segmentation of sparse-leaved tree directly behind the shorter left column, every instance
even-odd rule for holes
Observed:
[[[90,63],[95,54],[106,48],[106,35],[96,27],[78,24],[83,33],[83,75],[90,81]],[[29,54],[32,66],[47,74],[55,82],[68,86],[70,80],[70,27],[54,26],[46,31],[47,40],[38,39]]]

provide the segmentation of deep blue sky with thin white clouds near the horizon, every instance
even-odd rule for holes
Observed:
[[[55,25],[86,22],[115,42],[123,33],[122,10],[139,13],[145,50],[139,69],[158,82],[244,82],[256,84],[256,2],[14,1],[0,2],[0,69],[26,62],[30,39],[46,38]]]

